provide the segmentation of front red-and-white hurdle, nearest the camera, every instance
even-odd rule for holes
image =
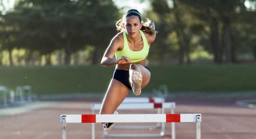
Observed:
[[[201,114],[62,114],[62,139],[66,139],[66,123],[152,123],[196,122],[196,139],[201,139]],[[95,139],[95,134],[92,134]]]

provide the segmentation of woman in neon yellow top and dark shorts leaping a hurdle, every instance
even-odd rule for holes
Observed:
[[[150,70],[146,67],[149,47],[156,38],[154,22],[146,23],[138,10],[128,10],[116,22],[118,33],[111,40],[101,61],[101,65],[116,65],[113,78],[104,97],[100,114],[113,114],[130,90],[138,96],[150,80]],[[116,56],[116,59],[112,59]],[[106,131],[113,123],[104,123]]]

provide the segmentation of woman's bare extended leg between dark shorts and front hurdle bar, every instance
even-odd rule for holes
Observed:
[[[113,114],[129,91],[122,82],[112,79],[102,102],[100,114]]]

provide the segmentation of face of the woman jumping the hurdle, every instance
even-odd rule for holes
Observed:
[[[128,16],[124,21],[124,28],[130,37],[135,37],[142,27],[138,16]]]

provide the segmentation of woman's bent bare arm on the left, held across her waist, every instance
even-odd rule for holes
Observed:
[[[121,34],[122,35],[122,34]],[[125,64],[125,63],[130,63],[130,59],[128,57],[121,57],[120,59],[112,59],[114,57],[116,51],[120,47],[122,47],[123,40],[120,38],[121,36],[116,35],[110,42],[110,45],[106,49],[102,60],[101,60],[101,65],[104,66],[112,66],[116,64]]]

